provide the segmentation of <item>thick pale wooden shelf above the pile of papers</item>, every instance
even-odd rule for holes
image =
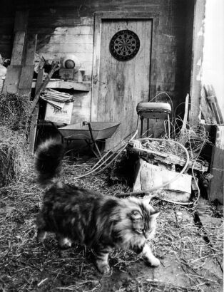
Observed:
[[[36,87],[36,80],[32,82],[32,88]],[[51,79],[46,85],[46,88],[61,88],[61,89],[73,89],[80,91],[91,90],[91,82],[77,82],[77,81],[64,81],[60,79]]]

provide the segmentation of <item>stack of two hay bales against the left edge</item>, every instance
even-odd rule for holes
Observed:
[[[0,187],[19,180],[27,168],[30,109],[28,96],[0,94]]]

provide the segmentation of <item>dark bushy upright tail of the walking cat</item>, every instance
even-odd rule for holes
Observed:
[[[63,145],[54,139],[46,140],[39,145],[35,155],[35,170],[37,180],[43,187],[59,181],[63,155]]]

